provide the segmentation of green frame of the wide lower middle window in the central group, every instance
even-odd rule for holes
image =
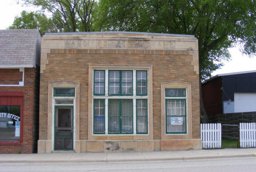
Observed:
[[[118,102],[118,107],[119,107],[117,109],[117,112],[115,112],[116,113],[115,115],[113,115],[112,110],[110,110],[110,101],[113,101],[113,100]],[[125,112],[123,111],[124,110],[123,101],[127,101],[127,100],[131,101],[130,115],[125,114]],[[115,106],[115,108],[116,107],[117,106]],[[112,120],[110,118],[115,118],[116,120]],[[125,121],[124,118],[131,118],[130,132],[125,131],[125,124],[123,124],[123,121]],[[113,123],[111,123],[111,121],[114,121],[114,125]],[[116,129],[118,129],[118,131],[111,131]],[[129,129],[129,127],[126,127],[126,129]],[[133,99],[108,99],[108,134],[133,134]]]

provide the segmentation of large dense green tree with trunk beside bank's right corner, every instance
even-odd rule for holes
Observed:
[[[229,59],[228,48],[242,44],[243,53],[255,55],[255,8],[254,0],[101,0],[95,27],[193,34],[199,40],[200,79],[205,80]],[[206,116],[202,101],[200,106],[201,117]]]

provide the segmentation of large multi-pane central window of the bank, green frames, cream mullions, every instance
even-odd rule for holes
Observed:
[[[148,134],[147,73],[94,70],[94,134]]]

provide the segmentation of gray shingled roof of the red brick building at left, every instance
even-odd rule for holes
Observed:
[[[0,30],[0,66],[35,67],[38,46],[40,34],[37,29]]]

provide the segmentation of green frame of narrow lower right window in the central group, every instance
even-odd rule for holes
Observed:
[[[142,101],[146,102],[146,107],[142,106]],[[139,110],[141,109],[141,110]],[[143,110],[145,109],[145,114],[143,115]],[[146,127],[146,132],[138,131],[140,125],[139,118],[144,118],[144,127]],[[148,99],[136,99],[136,134],[148,134]]]

